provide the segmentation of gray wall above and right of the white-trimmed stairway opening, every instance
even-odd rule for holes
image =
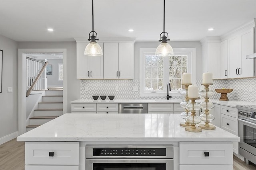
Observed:
[[[18,49],[67,49],[67,112],[72,100],[80,98],[80,80],[76,79],[76,42],[18,42]]]

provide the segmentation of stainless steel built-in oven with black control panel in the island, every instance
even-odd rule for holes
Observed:
[[[86,145],[85,170],[174,170],[173,145]]]

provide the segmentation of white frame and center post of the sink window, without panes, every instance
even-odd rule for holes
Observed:
[[[162,92],[154,91],[154,92],[145,92],[145,82],[144,82],[144,75],[145,75],[145,55],[154,55],[156,51],[156,48],[140,48],[140,96],[166,96],[167,94],[167,80],[166,73],[169,74],[169,58],[164,58],[164,90]],[[188,59],[188,72],[190,72],[191,80],[193,84],[196,84],[196,48],[173,48],[175,55],[189,55]],[[167,61],[167,62],[166,62]],[[169,76],[168,76],[169,77]],[[170,96],[181,96],[178,90],[175,90],[175,92],[171,91],[169,92]]]

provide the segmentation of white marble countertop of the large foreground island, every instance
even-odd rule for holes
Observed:
[[[27,133],[17,141],[100,142],[230,142],[240,138],[223,129],[185,131],[180,114],[66,113]],[[203,123],[203,122],[202,122]]]

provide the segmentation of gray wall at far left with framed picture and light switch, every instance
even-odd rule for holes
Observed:
[[[3,50],[2,93],[0,93],[0,139],[18,131],[18,43],[0,35]],[[7,88],[12,87],[12,93]]]

